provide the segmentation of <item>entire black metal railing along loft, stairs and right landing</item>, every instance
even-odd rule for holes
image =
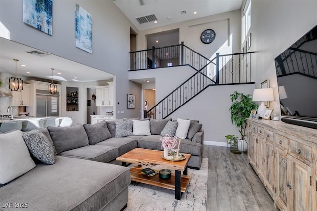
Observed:
[[[166,52],[172,56],[166,58]],[[209,60],[183,43],[158,49],[130,52],[132,65],[130,71],[167,67],[170,66],[171,61],[179,61],[180,64],[176,66],[189,65],[197,71],[149,109],[145,117],[164,119],[209,86],[254,83],[251,71],[252,53],[254,52],[226,55],[216,53],[216,57]]]

